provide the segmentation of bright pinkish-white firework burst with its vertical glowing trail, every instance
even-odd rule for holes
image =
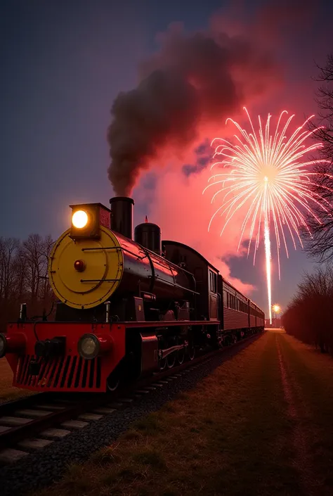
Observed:
[[[237,122],[232,119],[240,136],[235,134],[235,142],[232,144],[226,139],[215,138],[211,142],[219,139],[221,144],[216,146],[214,158],[217,156],[221,159],[211,165],[211,169],[227,167],[226,172],[214,174],[209,178],[209,185],[203,193],[216,184],[221,188],[214,193],[211,203],[216,196],[224,193],[221,206],[218,207],[209,222],[208,230],[211,227],[214,217],[218,212],[225,217],[223,229],[230,222],[237,210],[247,206],[244,220],[242,222],[240,241],[238,248],[242,243],[244,231],[249,225],[249,246],[247,255],[249,255],[252,242],[254,242],[254,263],[256,260],[256,250],[261,240],[261,231],[263,230],[263,241],[265,246],[266,257],[266,281],[268,291],[269,319],[272,323],[272,298],[271,298],[271,251],[270,239],[272,231],[275,234],[277,253],[278,253],[278,272],[280,279],[280,246],[285,246],[287,257],[289,256],[285,229],[289,234],[296,249],[296,240],[303,247],[299,228],[305,227],[311,236],[310,229],[306,224],[306,219],[301,210],[308,212],[315,220],[320,223],[318,217],[311,209],[311,203],[319,205],[320,208],[328,212],[329,203],[318,193],[315,193],[312,186],[315,185],[315,172],[308,170],[309,165],[327,162],[327,160],[306,160],[306,155],[322,148],[321,143],[315,143],[306,146],[304,142],[314,131],[304,129],[304,125],[310,120],[309,117],[302,126],[297,127],[293,134],[287,138],[285,135],[290,122],[294,115],[287,119],[282,127],[281,120],[287,110],[284,110],[278,119],[278,125],[273,135],[270,134],[270,117],[266,120],[266,125],[261,124],[259,116],[259,129],[255,131],[251,117],[244,107],[252,132],[247,133]],[[257,134],[258,133],[258,134]],[[325,189],[325,186],[322,186]]]

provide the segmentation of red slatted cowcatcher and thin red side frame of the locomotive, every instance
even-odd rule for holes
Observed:
[[[81,324],[67,322],[25,322],[9,324],[6,338],[8,345],[12,343],[15,352],[6,355],[13,370],[13,386],[35,391],[100,393],[106,390],[107,377],[116,369],[125,357],[126,329],[152,329],[154,332],[143,333],[145,338],[151,339],[155,331],[161,327],[172,326],[216,326],[216,322],[192,321],[164,321],[164,322],[121,322],[101,324]],[[36,360],[34,355],[34,333],[38,333],[41,341],[66,336],[65,354]],[[110,350],[94,358],[84,360],[77,351],[79,338],[84,334],[92,333],[96,336],[110,339]],[[15,344],[20,344],[18,352]],[[24,348],[22,348],[24,346]],[[32,376],[29,373],[30,362],[41,364],[39,374]],[[158,357],[152,355],[152,360],[146,360],[145,373],[157,369]]]

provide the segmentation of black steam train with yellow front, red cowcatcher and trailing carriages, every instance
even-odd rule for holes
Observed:
[[[194,248],[162,241],[147,217],[133,233],[133,205],[70,205],[48,260],[52,319],[32,321],[22,303],[0,334],[13,386],[112,392],[263,331],[263,310]]]

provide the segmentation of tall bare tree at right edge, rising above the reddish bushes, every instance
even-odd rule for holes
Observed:
[[[325,160],[315,166],[315,186],[313,193],[321,196],[327,211],[319,205],[313,206],[315,217],[307,215],[308,227],[310,227],[312,238],[305,239],[305,250],[308,255],[319,262],[333,260],[333,55],[327,57],[327,63],[320,69],[318,81],[321,86],[318,89],[318,125],[309,122],[313,131],[313,137],[322,143],[320,158]]]

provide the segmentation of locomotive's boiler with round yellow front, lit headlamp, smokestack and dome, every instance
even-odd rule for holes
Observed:
[[[159,320],[166,313],[168,318],[178,317],[195,293],[194,276],[161,256],[156,224],[139,224],[133,241],[131,198],[111,198],[110,203],[111,212],[100,204],[72,206],[76,225],[53,247],[49,277],[63,302],[59,317],[103,320],[107,314],[107,320],[121,321]]]

